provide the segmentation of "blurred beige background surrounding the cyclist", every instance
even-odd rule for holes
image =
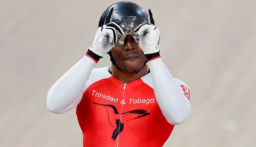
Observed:
[[[82,147],[75,109],[46,108],[50,87],[92,44],[117,1],[0,0],[0,146]],[[164,147],[253,147],[256,1],[134,0],[151,9],[160,54],[190,87],[190,118]],[[110,65],[108,55],[96,67]]]

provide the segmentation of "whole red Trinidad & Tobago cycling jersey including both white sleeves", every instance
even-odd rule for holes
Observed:
[[[157,58],[150,73],[124,84],[86,55],[51,87],[49,111],[77,106],[85,147],[159,147],[190,115],[190,90]],[[161,110],[160,110],[161,108]]]

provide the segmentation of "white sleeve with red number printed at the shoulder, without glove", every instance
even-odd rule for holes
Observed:
[[[172,125],[184,122],[191,113],[188,88],[184,89],[187,85],[181,86],[177,83],[177,79],[171,76],[161,58],[148,63],[156,100],[165,118]]]

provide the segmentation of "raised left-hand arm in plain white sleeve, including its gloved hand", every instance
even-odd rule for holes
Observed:
[[[49,111],[61,114],[78,105],[93,67],[105,53],[115,47],[116,36],[124,35],[120,26],[111,22],[113,10],[114,8],[111,8],[105,24],[98,28],[85,56],[59,78],[49,90],[46,102]]]

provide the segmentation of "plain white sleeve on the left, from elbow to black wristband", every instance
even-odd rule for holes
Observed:
[[[51,87],[46,105],[49,111],[62,114],[81,101],[84,86],[96,62],[84,56]]]

